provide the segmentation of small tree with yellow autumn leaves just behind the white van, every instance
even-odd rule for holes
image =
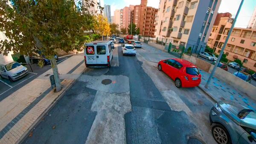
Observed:
[[[111,35],[111,28],[108,23],[108,19],[99,14],[95,17],[97,23],[94,25],[95,31],[102,35],[102,40],[104,35]]]

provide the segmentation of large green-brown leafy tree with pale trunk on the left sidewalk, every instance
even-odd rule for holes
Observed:
[[[21,55],[40,52],[51,61],[56,92],[60,91],[54,55],[58,49],[81,51],[86,40],[83,30],[91,17],[87,8],[94,4],[85,1],[87,6],[82,7],[74,0],[1,0],[0,31],[9,40],[0,41],[0,52],[4,55],[9,51]]]

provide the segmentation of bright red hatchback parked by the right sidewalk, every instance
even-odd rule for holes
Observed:
[[[160,60],[158,70],[165,72],[175,81],[175,86],[194,87],[201,83],[201,74],[197,66],[187,60],[171,58]]]

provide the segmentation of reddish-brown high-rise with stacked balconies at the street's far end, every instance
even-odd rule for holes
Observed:
[[[158,9],[147,6],[147,0],[141,0],[140,5],[134,6],[132,22],[140,28],[140,35],[155,37],[155,17]]]

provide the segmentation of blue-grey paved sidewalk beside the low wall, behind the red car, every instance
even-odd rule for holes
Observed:
[[[167,52],[164,52],[160,49],[154,48],[153,46],[149,46],[148,44],[142,43],[143,49],[137,49],[137,52],[140,53],[140,55],[143,55],[143,57],[151,62],[158,63],[159,60],[167,59],[167,58],[177,58],[174,55],[171,55]],[[199,85],[199,88],[207,93],[214,101],[223,101],[223,100],[230,100],[237,102],[245,107],[248,107],[250,109],[256,109],[256,101],[244,94],[243,92],[240,92],[239,90],[233,88],[233,86],[230,86],[229,84],[226,84],[225,82],[219,80],[218,78],[213,77],[211,83],[209,84],[209,88],[204,88],[204,85],[206,84],[209,73],[203,71],[200,69],[200,73],[202,75],[201,78],[201,84]]]

